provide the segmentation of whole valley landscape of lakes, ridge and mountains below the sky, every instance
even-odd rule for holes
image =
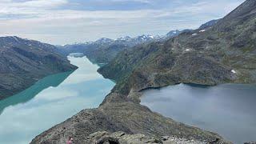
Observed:
[[[256,1],[246,0],[224,18],[162,36],[65,46],[1,37],[0,139],[254,141],[255,24]]]

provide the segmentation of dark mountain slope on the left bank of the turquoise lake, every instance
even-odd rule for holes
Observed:
[[[0,99],[25,90],[46,75],[76,69],[55,50],[42,42],[0,38]]]

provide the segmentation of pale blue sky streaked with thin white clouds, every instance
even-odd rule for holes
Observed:
[[[0,36],[54,45],[196,29],[245,0],[0,0]]]

